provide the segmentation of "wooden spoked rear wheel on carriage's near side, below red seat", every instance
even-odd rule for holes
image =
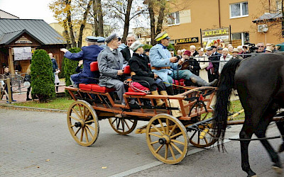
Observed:
[[[99,136],[99,120],[86,101],[75,101],[67,112],[68,129],[75,141],[84,146],[94,144]]]

